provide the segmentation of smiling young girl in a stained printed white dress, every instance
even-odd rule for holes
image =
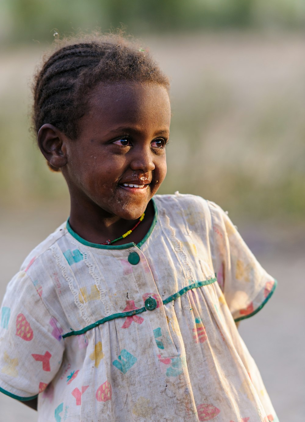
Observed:
[[[228,216],[166,175],[169,80],[118,36],[63,43],[34,89],[70,218],[1,308],[0,391],[43,421],[277,421],[235,322],[275,280]],[[235,321],[235,322],[234,322]]]

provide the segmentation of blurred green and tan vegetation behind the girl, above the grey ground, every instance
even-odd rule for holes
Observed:
[[[1,0],[0,7],[2,207],[60,206],[67,196],[29,132],[29,84],[54,32],[123,23],[172,78],[160,193],[201,195],[251,219],[303,219],[304,0]]]

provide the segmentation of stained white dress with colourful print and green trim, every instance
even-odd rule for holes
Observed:
[[[64,223],[27,257],[0,310],[0,391],[44,421],[278,421],[235,321],[276,282],[227,214],[156,195],[138,243]]]

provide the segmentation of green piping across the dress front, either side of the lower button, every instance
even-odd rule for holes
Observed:
[[[208,280],[204,280],[204,281],[195,281],[194,283],[190,284],[189,286],[186,286],[183,289],[179,290],[179,292],[174,293],[174,295],[171,295],[168,298],[162,300],[162,303],[163,303],[163,305],[166,305],[166,303],[169,303],[172,300],[175,300],[175,299],[179,298],[180,296],[184,295],[188,290],[197,289],[198,287],[202,287],[202,286],[206,286],[207,284],[215,283],[215,281],[217,281],[216,278],[208,279]],[[64,334],[62,336],[62,338],[70,337],[70,335],[84,334],[87,331],[92,330],[92,328],[95,328],[95,327],[97,327],[101,324],[104,324],[104,322],[111,321],[111,319],[132,317],[133,315],[141,314],[142,312],[146,312],[146,310],[147,309],[143,306],[143,308],[134,309],[133,311],[119,312],[118,314],[112,314],[112,315],[109,315],[108,317],[99,319],[99,321],[96,321],[93,324],[87,325],[87,327],[82,328],[81,330],[70,331],[69,333]]]

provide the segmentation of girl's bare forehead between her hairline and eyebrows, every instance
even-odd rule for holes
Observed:
[[[91,92],[87,116],[104,124],[155,123],[169,127],[169,95],[159,84],[101,83]]]

